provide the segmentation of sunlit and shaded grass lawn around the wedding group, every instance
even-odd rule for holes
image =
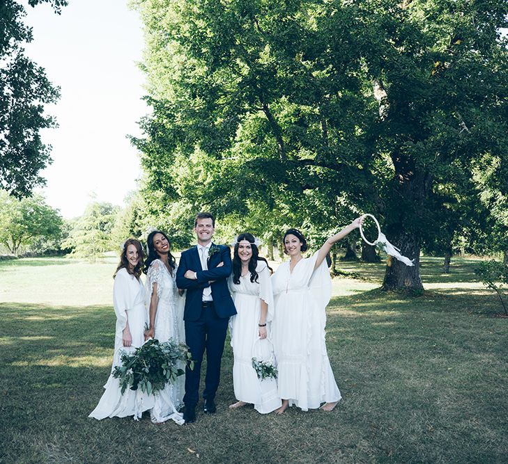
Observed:
[[[328,354],[344,399],[282,416],[235,401],[226,345],[217,413],[195,424],[88,419],[111,368],[116,259],[0,262],[0,462],[508,462],[508,319],[475,262],[424,258],[423,296],[377,288],[383,264],[334,279]]]

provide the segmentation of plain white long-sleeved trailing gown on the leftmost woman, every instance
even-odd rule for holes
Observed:
[[[132,353],[144,343],[144,326],[146,322],[145,289],[143,283],[123,268],[116,273],[113,286],[113,305],[116,314],[115,346],[113,367],[121,365],[121,353]],[[123,346],[123,329],[129,323],[132,346]],[[111,371],[113,368],[111,368]],[[118,378],[109,376],[97,407],[88,417],[104,419],[105,417],[134,416],[141,418],[144,411],[153,408],[153,397],[128,388],[123,394]]]

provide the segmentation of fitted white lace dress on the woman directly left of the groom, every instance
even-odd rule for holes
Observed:
[[[173,275],[159,259],[155,259],[148,269],[146,278],[147,301],[151,299],[153,285],[157,283],[159,303],[155,314],[155,338],[159,342],[167,342],[170,338],[176,342],[185,342],[183,323],[183,307],[185,297],[178,294],[175,282],[176,269]],[[182,364],[182,369],[185,365]],[[178,377],[176,383],[167,383],[164,390],[155,392],[155,404],[151,410],[152,422],[166,422],[168,419],[183,424],[183,415],[178,410],[183,406],[185,393],[185,375]]]

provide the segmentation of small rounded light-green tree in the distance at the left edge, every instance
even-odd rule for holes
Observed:
[[[41,241],[59,239],[62,229],[59,211],[40,195],[18,200],[0,191],[0,243],[13,255]]]

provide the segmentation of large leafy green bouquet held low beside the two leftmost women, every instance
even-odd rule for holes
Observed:
[[[160,343],[157,339],[148,340],[134,353],[121,355],[120,366],[115,366],[113,376],[120,379],[122,394],[127,387],[130,390],[141,388],[142,392],[152,394],[163,390],[166,383],[174,383],[176,378],[185,371],[181,363],[194,368],[189,347],[183,343],[176,343],[174,339]]]

